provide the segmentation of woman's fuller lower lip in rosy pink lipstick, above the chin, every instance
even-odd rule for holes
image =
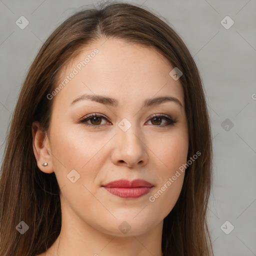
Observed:
[[[104,187],[111,194],[122,198],[138,198],[147,194],[151,187]]]

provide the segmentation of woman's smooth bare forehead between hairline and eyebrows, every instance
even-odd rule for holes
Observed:
[[[60,69],[57,83],[72,73],[75,75],[57,97],[70,98],[89,92],[134,99],[168,93],[183,104],[182,85],[169,75],[172,69],[154,48],[101,38],[79,49],[79,54]]]

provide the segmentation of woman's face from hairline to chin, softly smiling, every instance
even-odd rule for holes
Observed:
[[[118,236],[162,223],[179,196],[184,171],[177,170],[188,151],[172,69],[154,49],[102,38],[61,70],[62,86],[48,95],[50,160],[41,170],[55,172],[63,214]]]

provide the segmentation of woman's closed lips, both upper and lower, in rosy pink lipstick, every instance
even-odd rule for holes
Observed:
[[[122,198],[138,198],[147,194],[153,185],[144,179],[134,179],[132,181],[119,179],[103,184],[102,187],[111,194]]]

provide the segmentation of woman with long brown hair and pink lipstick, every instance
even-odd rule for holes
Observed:
[[[79,11],[19,94],[0,255],[212,255],[211,150],[199,72],[177,33],[128,3]]]

